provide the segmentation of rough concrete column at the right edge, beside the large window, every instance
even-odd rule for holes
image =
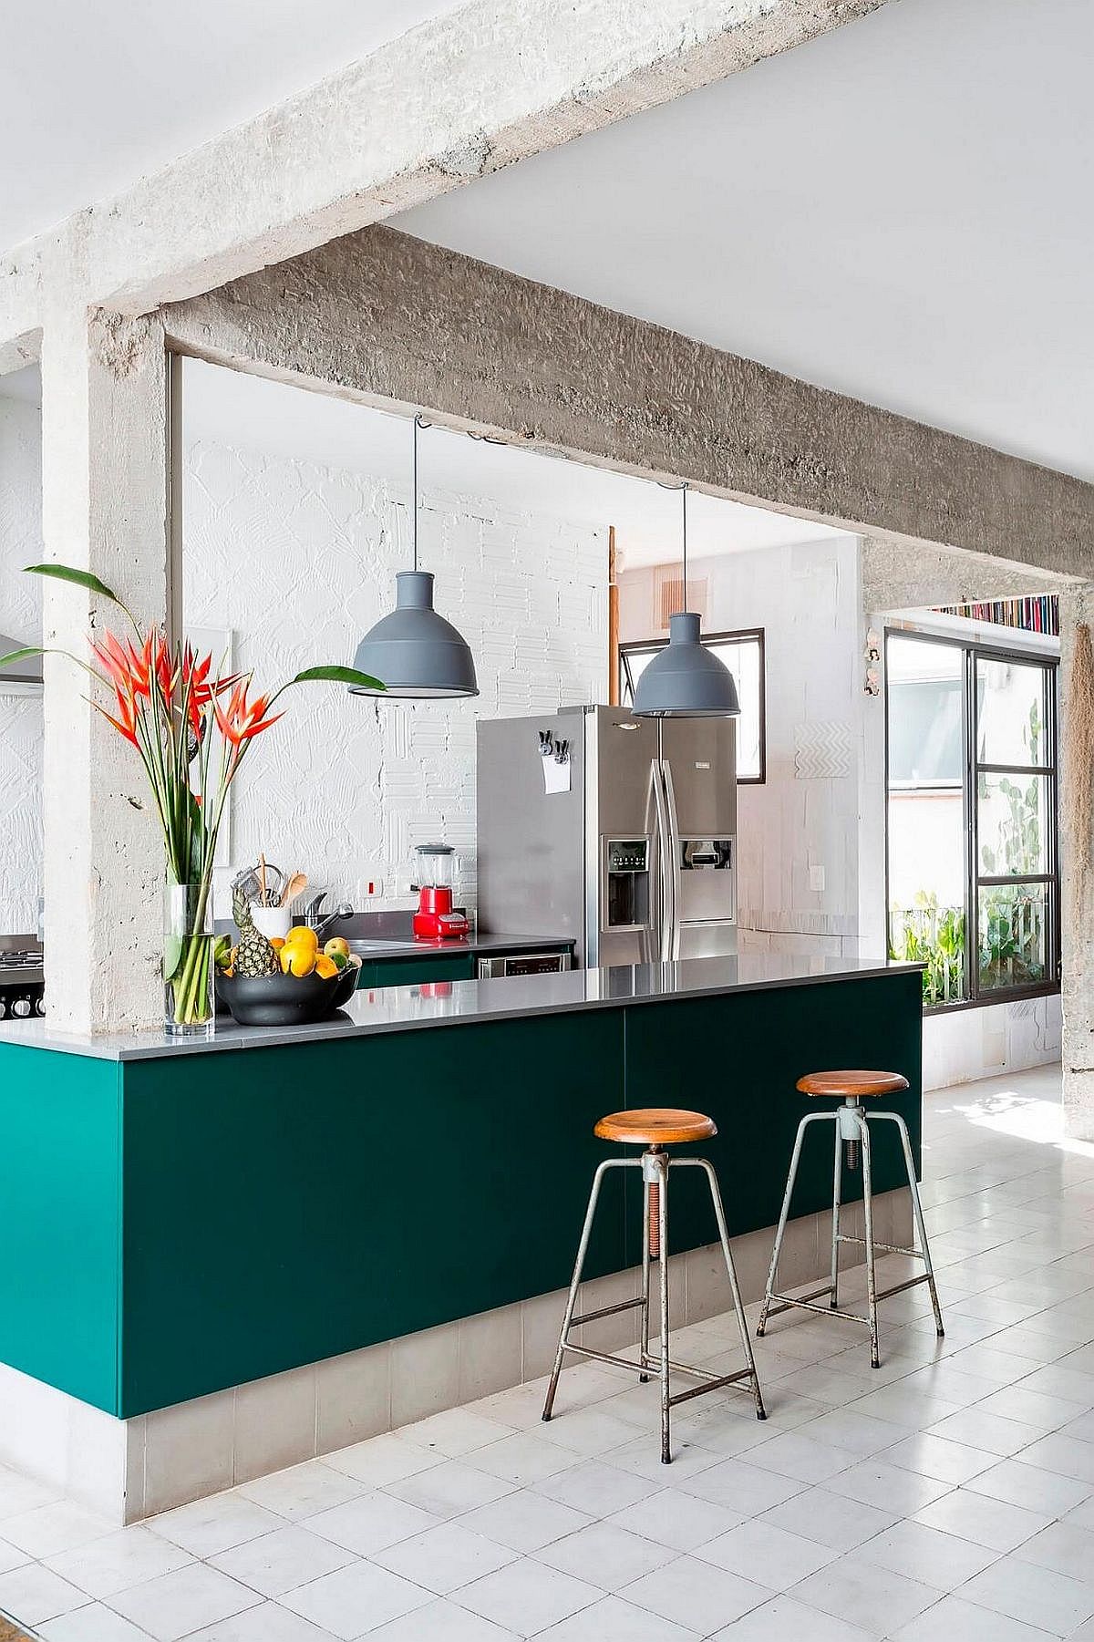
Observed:
[[[1076,626],[1094,629],[1094,583],[1060,594],[1060,803],[1063,943],[1063,1087],[1064,1125],[1074,1140],[1094,1140],[1094,836],[1074,837],[1068,818],[1071,759],[1071,670]],[[1079,872],[1086,860],[1086,874]],[[1083,880],[1083,882],[1081,882]]]

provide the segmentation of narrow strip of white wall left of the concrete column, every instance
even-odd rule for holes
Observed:
[[[0,632],[41,639],[41,415],[0,399]],[[38,929],[41,895],[41,696],[0,685],[0,933]]]

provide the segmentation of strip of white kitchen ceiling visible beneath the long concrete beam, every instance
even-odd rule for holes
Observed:
[[[2,376],[0,397],[41,402],[38,369]],[[199,360],[184,363],[182,430],[186,443],[212,438],[325,468],[411,481],[406,417]],[[601,529],[614,524],[626,570],[665,563],[680,552],[680,494],[644,479],[490,445],[440,427],[421,433],[419,476],[425,493],[450,491]],[[688,496],[688,552],[695,558],[815,542],[836,534],[762,507],[741,507],[700,493]]]

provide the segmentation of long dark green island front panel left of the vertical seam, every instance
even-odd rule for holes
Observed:
[[[123,1076],[128,1417],[563,1287],[623,1011]],[[590,1274],[623,1264],[614,1174]]]

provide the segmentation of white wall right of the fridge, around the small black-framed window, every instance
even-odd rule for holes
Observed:
[[[764,629],[767,780],[738,793],[742,946],[857,952],[857,552],[846,535],[688,568],[706,583],[708,632]],[[655,635],[652,585],[652,570],[623,575],[624,640]]]

